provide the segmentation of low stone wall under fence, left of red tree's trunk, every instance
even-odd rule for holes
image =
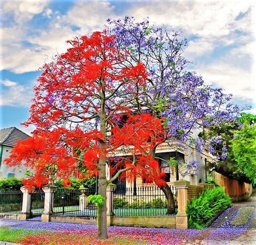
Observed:
[[[52,215],[51,222],[85,223],[87,225],[96,225],[97,224],[97,216]]]

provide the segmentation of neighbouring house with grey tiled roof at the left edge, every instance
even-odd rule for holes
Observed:
[[[1,178],[22,178],[26,172],[25,166],[8,167],[3,160],[10,156],[10,151],[17,144],[17,141],[23,141],[30,136],[23,131],[11,127],[0,130],[0,179]]]

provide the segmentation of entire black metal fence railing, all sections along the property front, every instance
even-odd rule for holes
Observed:
[[[176,187],[170,187],[174,196],[174,205],[177,207]],[[52,194],[52,213],[54,215],[97,215],[97,207],[86,199],[90,194],[95,194],[95,188],[84,188],[84,190],[62,189],[55,190]],[[30,213],[31,217],[41,216],[45,205],[44,191],[36,190],[30,195],[30,209],[26,212]],[[22,210],[22,201],[22,191],[0,192],[0,214],[19,214]],[[114,215],[117,216],[161,216],[168,213],[165,194],[157,186],[139,186],[136,188],[117,186],[113,193],[111,206]]]

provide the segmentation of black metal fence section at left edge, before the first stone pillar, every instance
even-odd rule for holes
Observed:
[[[0,214],[19,214],[23,193],[19,190],[0,191]]]

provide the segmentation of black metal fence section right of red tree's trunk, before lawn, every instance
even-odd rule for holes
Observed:
[[[117,186],[117,189],[124,188]],[[177,208],[177,190],[171,186]],[[161,216],[167,213],[167,200],[157,186],[126,187],[114,193],[113,212],[117,216]]]

